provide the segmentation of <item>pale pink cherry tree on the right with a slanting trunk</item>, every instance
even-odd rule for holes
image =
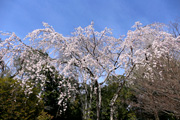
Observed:
[[[157,72],[155,71],[154,67],[156,67],[159,62],[154,61],[153,58],[159,59],[169,57],[169,60],[173,60],[175,55],[176,58],[179,58],[177,57],[177,53],[180,52],[180,37],[178,36],[175,38],[172,34],[165,32],[165,27],[165,25],[160,23],[142,27],[141,23],[136,22],[136,24],[133,26],[135,30],[128,31],[124,42],[126,43],[126,47],[129,49],[129,52],[131,52],[131,56],[129,57],[131,66],[125,68],[130,70],[129,74],[126,74],[126,79],[128,79],[128,77],[131,79],[136,79],[131,72],[139,71],[140,67],[146,67],[147,71],[144,71],[144,77],[151,78],[152,81],[155,81]],[[128,50],[126,50],[126,52],[127,51]],[[151,63],[151,61],[153,61],[153,63]],[[160,66],[164,66],[164,64],[161,63]],[[158,74],[160,79],[163,79],[161,73],[162,71],[159,71]],[[133,81],[129,81],[129,83],[130,82]],[[112,104],[114,104],[115,100],[117,99],[118,93],[121,91],[124,83],[125,82],[119,83],[120,87],[117,89],[117,93],[114,94],[111,101]],[[113,109],[111,109],[111,111],[113,111]],[[111,120],[113,119],[112,114]]]

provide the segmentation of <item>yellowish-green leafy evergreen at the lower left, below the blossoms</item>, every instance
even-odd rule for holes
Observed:
[[[27,94],[26,90],[17,80],[0,78],[1,120],[32,120],[40,115],[43,104],[37,97],[39,90],[33,88]]]

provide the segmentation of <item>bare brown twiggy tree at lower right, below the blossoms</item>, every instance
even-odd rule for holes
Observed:
[[[158,61],[153,64],[153,61]],[[154,114],[159,120],[159,113],[172,114],[180,117],[180,61],[169,57],[153,59],[149,62],[152,70],[145,72],[146,67],[134,72],[134,91],[137,97],[136,104],[146,112]]]

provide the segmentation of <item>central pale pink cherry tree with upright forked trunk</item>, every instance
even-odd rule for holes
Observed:
[[[124,68],[129,61],[129,55],[124,52],[123,40],[114,38],[111,30],[107,28],[101,32],[94,31],[93,23],[84,29],[77,28],[72,37],[63,37],[51,26],[44,25],[45,29],[35,30],[27,38],[30,37],[36,49],[54,53],[54,57],[49,61],[61,74],[82,81],[84,86],[90,82],[91,90],[96,93],[97,119],[99,119],[101,85],[115,73],[115,70]],[[101,83],[98,82],[100,77],[104,77]],[[92,92],[90,94],[89,105]],[[85,109],[88,107],[87,104],[85,103]]]

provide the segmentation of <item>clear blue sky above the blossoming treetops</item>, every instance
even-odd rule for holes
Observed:
[[[0,31],[21,38],[47,22],[65,36],[94,21],[97,31],[112,28],[115,37],[136,21],[168,23],[180,17],[180,0],[0,0]]]

